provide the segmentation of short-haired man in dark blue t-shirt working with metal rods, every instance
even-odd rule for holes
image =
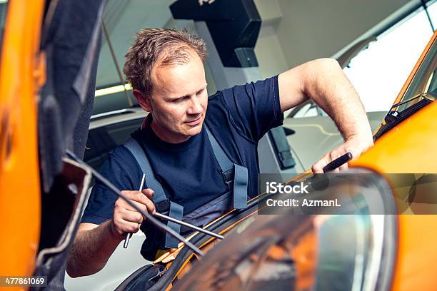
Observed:
[[[373,144],[361,101],[335,60],[303,63],[278,76],[208,97],[206,55],[204,41],[186,31],[143,29],[124,65],[136,100],[150,113],[132,137],[149,157],[166,197],[183,207],[184,218],[211,201],[216,205],[216,199],[232,192],[223,181],[211,135],[236,167],[248,169],[249,198],[257,195],[259,139],[282,124],[283,111],[308,98],[333,118],[345,139],[313,165],[314,173],[321,173],[324,165],[344,153],[356,158]],[[101,173],[141,209],[156,211],[152,201],[156,189],[134,190],[140,184],[141,166],[125,146],[110,154]],[[137,232],[143,220],[134,208],[97,183],[71,248],[69,275],[101,270],[126,233]],[[148,223],[141,230],[147,237],[141,254],[153,260],[164,247],[164,237]]]

